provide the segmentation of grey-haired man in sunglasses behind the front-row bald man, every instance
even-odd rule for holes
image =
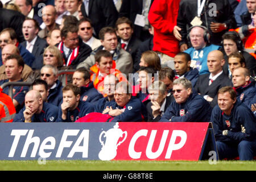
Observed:
[[[48,84],[49,95],[48,103],[59,106],[62,102],[62,84],[58,80],[58,70],[52,65],[44,65],[40,71],[40,78]]]

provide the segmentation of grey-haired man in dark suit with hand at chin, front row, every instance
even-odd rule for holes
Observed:
[[[156,122],[162,117],[174,97],[168,96],[167,87],[162,81],[155,81],[148,86],[151,102],[147,104],[147,121]]]

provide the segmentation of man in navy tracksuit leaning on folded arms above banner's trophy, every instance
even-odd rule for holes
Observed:
[[[124,81],[117,84],[114,92],[115,103],[110,106],[108,113],[106,113],[113,117],[109,122],[147,121],[144,104],[138,98],[131,96],[131,93],[126,90],[131,90],[129,84]]]

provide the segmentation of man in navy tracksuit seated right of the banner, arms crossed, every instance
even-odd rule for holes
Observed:
[[[218,91],[218,105],[212,110],[218,156],[253,160],[256,155],[256,118],[251,110],[237,101],[231,86]]]

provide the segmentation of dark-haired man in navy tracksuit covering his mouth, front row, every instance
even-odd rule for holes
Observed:
[[[75,122],[77,119],[94,111],[89,102],[80,101],[80,88],[68,84],[63,88],[63,103],[59,109],[59,122]]]

